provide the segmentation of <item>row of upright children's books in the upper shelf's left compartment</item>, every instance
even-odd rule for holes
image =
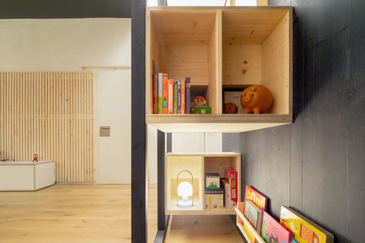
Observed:
[[[190,114],[190,78],[173,80],[165,73],[152,75],[153,114]]]

